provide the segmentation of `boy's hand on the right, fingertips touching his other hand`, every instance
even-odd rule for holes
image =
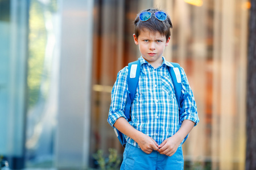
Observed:
[[[164,154],[167,156],[172,156],[175,154],[175,152],[177,151],[177,148],[179,147],[181,142],[179,142],[175,136],[172,136],[170,138],[167,138],[166,140],[163,141],[163,143],[161,143],[161,145],[159,145],[159,150],[158,152],[160,154]]]

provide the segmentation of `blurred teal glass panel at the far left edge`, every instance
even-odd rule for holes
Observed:
[[[0,155],[23,168],[28,1],[0,1]]]

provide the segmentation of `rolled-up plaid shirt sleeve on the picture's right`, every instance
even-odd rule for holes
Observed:
[[[184,70],[181,68],[181,115],[180,121],[191,120],[195,122],[195,126],[199,122],[199,117],[197,114],[196,101],[193,96],[191,87],[188,84],[187,76]]]

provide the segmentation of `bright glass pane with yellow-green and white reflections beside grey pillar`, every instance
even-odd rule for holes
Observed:
[[[56,125],[57,1],[30,1],[27,167],[52,167]]]

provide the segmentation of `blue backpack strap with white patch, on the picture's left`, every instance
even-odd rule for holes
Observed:
[[[131,120],[130,108],[136,93],[140,73],[141,73],[141,63],[139,62],[139,60],[128,64],[128,76],[127,76],[128,90],[127,90],[127,102],[125,105],[125,116],[128,119],[128,121]]]

